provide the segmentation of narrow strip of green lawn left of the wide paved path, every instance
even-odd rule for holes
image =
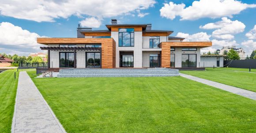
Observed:
[[[14,79],[16,72],[16,79]],[[0,133],[11,133],[19,72],[7,70],[0,73]]]

